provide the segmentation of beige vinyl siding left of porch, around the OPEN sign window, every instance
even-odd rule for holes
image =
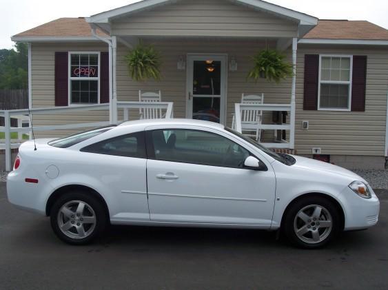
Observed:
[[[32,107],[55,106],[55,52],[108,51],[108,45],[99,43],[32,43]],[[33,114],[34,126],[64,125],[70,123],[90,123],[109,121],[109,112],[72,112],[55,115]],[[35,132],[37,137],[56,137],[79,130],[55,130]]]

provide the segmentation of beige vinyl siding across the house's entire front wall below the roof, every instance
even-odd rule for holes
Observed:
[[[180,56],[187,54],[227,54],[238,63],[236,72],[227,72],[227,125],[232,122],[234,103],[241,100],[241,94],[265,94],[265,103],[289,103],[292,80],[280,84],[247,81],[247,72],[252,68],[250,57],[265,48],[265,41],[258,39],[241,41],[221,39],[154,39],[153,43],[162,56],[161,81],[135,82],[127,73],[124,56],[128,48],[119,45],[117,56],[117,94],[119,101],[138,101],[139,89],[162,92],[162,101],[174,102],[174,116],[185,117],[186,71],[177,70]],[[276,43],[269,42],[270,47]],[[33,44],[32,45],[32,105],[33,107],[54,106],[54,52],[56,51],[106,51],[107,45],[97,43]],[[286,52],[291,61],[291,50]],[[304,111],[304,57],[305,54],[354,54],[367,55],[367,98],[365,112]],[[322,48],[299,45],[297,55],[296,83],[296,149],[298,154],[312,154],[313,147],[320,147],[322,154],[384,156],[385,120],[388,92],[388,52],[371,48]],[[139,110],[131,110],[131,119],[139,118]],[[55,116],[34,116],[34,125],[54,125],[107,121],[108,112],[83,112],[57,114]],[[309,130],[302,129],[302,121],[309,121]],[[271,114],[265,116],[265,123],[271,122]],[[37,136],[59,136],[68,132],[44,132]],[[273,131],[265,130],[264,138],[269,140]]]

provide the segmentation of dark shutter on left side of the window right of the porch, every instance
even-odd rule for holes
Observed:
[[[318,110],[319,54],[305,54],[303,110]]]

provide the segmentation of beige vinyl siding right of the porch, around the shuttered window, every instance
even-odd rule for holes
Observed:
[[[350,54],[367,56],[365,112],[303,110],[305,54]],[[299,45],[296,83],[296,149],[312,154],[384,156],[388,92],[388,51],[382,48],[347,48]],[[309,121],[309,130],[302,129]]]

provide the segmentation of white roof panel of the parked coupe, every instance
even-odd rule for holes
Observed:
[[[213,127],[214,129],[223,129],[224,125],[210,122],[210,121],[201,121],[194,119],[186,118],[161,118],[161,119],[147,119],[147,120],[136,120],[136,121],[126,121],[119,125],[123,126],[139,126],[144,125],[144,127],[153,126],[153,125],[197,125],[202,127]]]

